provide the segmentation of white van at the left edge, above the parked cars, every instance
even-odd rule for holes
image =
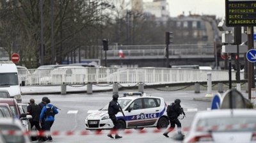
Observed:
[[[18,70],[12,61],[0,61],[0,89],[8,90],[11,98],[21,102]]]

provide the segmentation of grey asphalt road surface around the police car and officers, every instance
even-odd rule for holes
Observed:
[[[129,90],[131,91],[131,90]],[[128,91],[119,91],[122,93]],[[194,93],[193,91],[156,91],[145,90],[147,96],[163,97],[167,104],[174,102],[176,98],[181,100],[181,105],[186,112],[186,117],[180,122],[182,127],[189,127],[195,113],[198,110],[207,110],[211,107],[211,102],[196,101],[195,97],[204,97],[206,91],[203,93]],[[214,93],[214,92],[212,92]],[[61,133],[61,135],[52,135],[54,142],[73,143],[73,142],[116,142],[118,140],[122,143],[130,142],[180,142],[173,140],[171,137],[163,136],[163,131],[154,133],[156,128],[144,128],[145,133],[140,133],[134,129],[129,129],[131,133],[127,134],[120,132],[122,139],[110,139],[107,137],[108,131],[102,131],[99,135],[95,132],[88,131],[88,135],[79,135],[79,133],[86,131],[84,129],[84,119],[88,116],[88,110],[98,110],[106,105],[112,98],[112,92],[93,93],[93,94],[45,94],[45,95],[23,95],[22,102],[29,102],[29,99],[34,98],[36,103],[40,103],[43,96],[50,98],[51,103],[60,108],[59,114],[55,117],[54,124],[51,131]],[[67,132],[76,132],[76,135],[65,135]],[[127,130],[125,130],[127,131]],[[173,132],[175,133],[175,132]],[[184,132],[186,134],[186,132]],[[170,133],[172,136],[172,133]]]

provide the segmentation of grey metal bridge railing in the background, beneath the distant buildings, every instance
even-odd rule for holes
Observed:
[[[109,46],[107,56],[109,59],[119,58],[118,50],[122,49],[125,59],[134,58],[163,58],[165,56],[166,45],[125,45]],[[169,56],[195,56],[195,57],[214,57],[214,44],[183,44],[169,45]]]

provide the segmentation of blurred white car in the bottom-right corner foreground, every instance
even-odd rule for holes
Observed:
[[[184,139],[187,142],[256,142],[256,111],[221,109],[197,112]]]

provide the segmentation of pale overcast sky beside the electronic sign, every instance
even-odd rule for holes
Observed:
[[[167,0],[167,2],[171,17],[177,17],[183,11],[188,15],[191,11],[192,14],[216,15],[217,18],[225,19],[225,0]]]

